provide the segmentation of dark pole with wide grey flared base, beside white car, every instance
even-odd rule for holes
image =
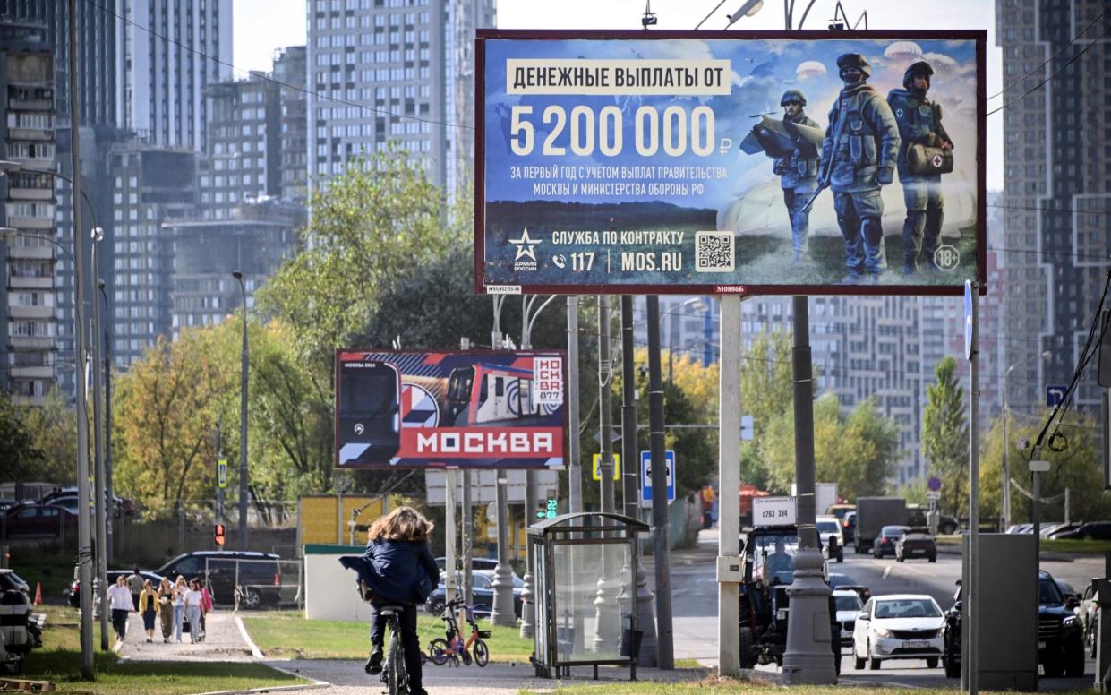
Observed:
[[[830,588],[822,576],[822,554],[818,549],[814,518],[814,396],[810,358],[808,299],[792,298],[794,347],[794,477],[799,524],[799,553],[794,557],[794,582],[788,587],[787,651],[783,674],[788,683],[835,684],[837,672],[830,641]],[[823,636],[821,638],[820,636]]]

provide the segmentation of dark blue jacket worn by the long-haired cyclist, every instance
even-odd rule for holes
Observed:
[[[361,557],[341,557],[377,597],[398,603],[423,603],[440,583],[440,568],[427,543],[371,540]]]

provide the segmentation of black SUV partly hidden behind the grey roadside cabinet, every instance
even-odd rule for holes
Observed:
[[[958,587],[960,582],[958,582]],[[961,589],[957,589],[953,607],[945,612],[944,656],[945,675],[961,676]],[[1038,663],[1045,676],[1055,678],[1062,674],[1078,677],[1084,675],[1084,641],[1080,618],[1072,609],[1079,605],[1075,598],[1065,599],[1057,582],[1048,572],[1038,577]]]

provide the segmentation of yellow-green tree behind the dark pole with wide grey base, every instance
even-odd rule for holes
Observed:
[[[788,494],[795,481],[794,414],[777,416],[764,438],[769,487]],[[860,401],[848,416],[832,393],[814,401],[817,480],[837,483],[847,499],[882,494],[898,450],[899,427],[879,411],[874,398]]]

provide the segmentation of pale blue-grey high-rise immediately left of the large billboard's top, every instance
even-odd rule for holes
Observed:
[[[492,21],[493,0],[310,0],[308,9],[310,176],[397,141],[426,158],[438,185],[463,178],[473,168],[473,29]]]

